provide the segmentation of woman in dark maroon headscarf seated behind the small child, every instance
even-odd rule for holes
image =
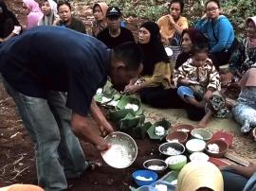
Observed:
[[[184,29],[181,34],[181,38],[182,52],[177,57],[174,67],[175,69],[178,69],[178,67],[181,66],[182,63],[192,58],[192,47],[196,43],[208,43],[207,37],[194,27]],[[211,54],[209,54],[209,58],[212,61],[215,68],[218,69],[218,67],[216,67],[216,59]]]

